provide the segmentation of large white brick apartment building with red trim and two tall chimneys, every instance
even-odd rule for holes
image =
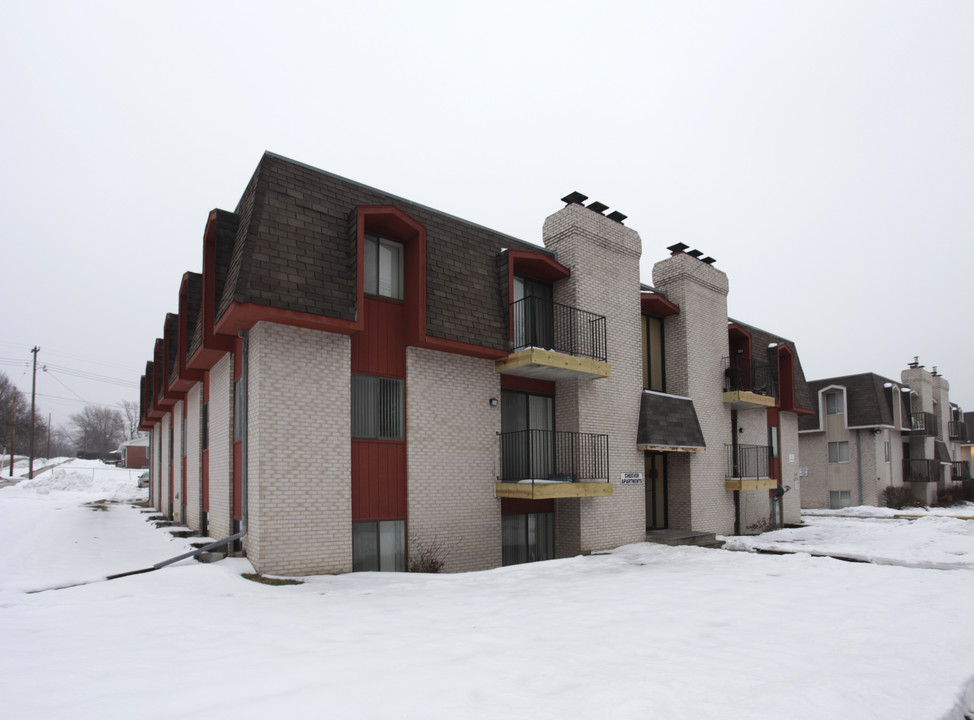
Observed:
[[[794,345],[728,325],[694,253],[640,290],[638,233],[585,200],[541,248],[265,154],[146,364],[153,504],[277,574],[767,524],[808,407]]]

